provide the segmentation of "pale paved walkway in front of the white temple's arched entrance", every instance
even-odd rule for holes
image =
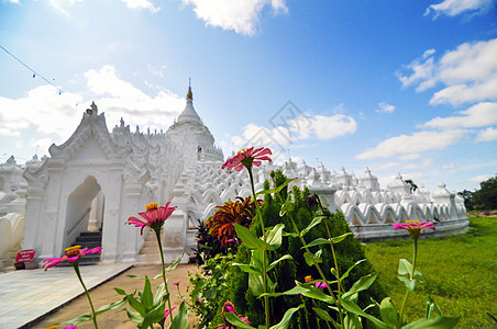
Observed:
[[[88,265],[79,269],[86,287],[90,290],[131,265]],[[84,293],[73,266],[55,266],[46,272],[36,269],[0,274],[0,329],[30,328],[30,322]]]

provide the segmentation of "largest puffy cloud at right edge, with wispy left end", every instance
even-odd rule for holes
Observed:
[[[497,38],[478,43],[465,43],[445,53],[435,61],[432,49],[405,68],[408,75],[397,72],[402,87],[417,84],[417,91],[444,88],[437,91],[430,104],[460,105],[497,99]]]

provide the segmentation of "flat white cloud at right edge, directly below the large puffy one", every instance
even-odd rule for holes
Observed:
[[[483,102],[460,112],[461,116],[434,117],[423,126],[433,128],[473,128],[497,124],[497,103]]]

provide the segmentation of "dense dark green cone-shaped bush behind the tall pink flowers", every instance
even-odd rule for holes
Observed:
[[[273,173],[273,178],[275,181],[275,188],[281,185],[286,180],[285,175],[280,171]],[[264,188],[265,190],[269,188],[269,183],[267,181],[265,182]],[[291,222],[288,216],[279,216],[279,211],[281,208],[280,200],[285,200],[288,193],[291,193],[292,195],[294,209],[291,211],[291,216],[295,218],[298,229],[301,230],[306,228],[312,220],[316,213],[311,211],[305,203],[306,197],[310,195],[309,190],[306,188],[303,191],[301,191],[299,188],[295,186],[291,192],[288,192],[287,188],[285,188],[279,192],[279,195],[272,196],[270,194],[267,194],[265,196],[262,206],[265,227],[270,227],[275,226],[276,224],[283,223],[285,224],[285,230],[291,231]],[[325,209],[325,212],[328,211]],[[330,214],[328,212],[328,215],[330,216],[330,218],[332,218],[332,226],[330,230],[333,237],[350,231],[349,225],[346,224],[342,214]],[[258,220],[253,223],[251,230],[254,231],[257,236],[262,235],[261,224]],[[324,226],[314,226],[306,236],[306,239],[308,241],[312,241],[317,238],[328,238],[327,228]],[[285,292],[292,288],[295,286],[296,280],[305,282],[305,277],[308,275],[311,275],[314,279],[319,279],[318,271],[314,268],[307,265],[303,258],[305,252],[301,247],[302,245],[298,238],[287,236],[284,237],[281,247],[279,249],[269,252],[269,257],[273,260],[278,259],[287,253],[291,254],[294,258],[294,260],[291,261],[279,263],[275,268],[275,270],[270,272],[270,280],[277,283],[277,292]],[[316,252],[318,250],[319,247],[311,248],[312,252]],[[338,261],[340,265],[339,270],[341,273],[344,273],[346,269],[349,269],[358,260],[365,259],[365,253],[362,245],[352,237],[349,237],[341,243],[336,245],[335,250],[338,253]],[[248,260],[250,251],[242,245],[236,253],[235,262],[247,263]],[[328,248],[322,249],[321,268],[329,269],[330,271],[333,268],[332,253]],[[232,302],[240,313],[248,317],[253,326],[257,327],[258,325],[263,325],[264,309],[262,300],[252,295],[248,288],[247,274],[241,272],[236,266],[232,266],[229,270],[230,272],[227,277],[228,286],[227,290],[224,290],[223,295],[224,300]],[[368,261],[362,262],[351,272],[349,280],[345,282],[345,288],[349,290],[353,282],[356,282],[361,276],[367,275],[372,272],[374,272],[374,269],[371,263]],[[327,271],[325,275],[329,280],[334,279],[329,271]],[[377,283],[373,284],[368,291],[360,294],[358,305],[362,308],[366,307],[371,303],[371,297],[376,300],[382,300],[385,297],[383,290]],[[278,322],[287,309],[297,307],[303,300],[307,307],[301,308],[297,314],[294,315],[289,328],[327,327],[324,322],[320,322],[319,317],[312,310],[312,307],[325,308],[324,305],[318,305],[318,302],[316,300],[302,298],[302,296],[298,295],[272,298],[272,322]],[[221,314],[221,309],[218,309],[218,313]],[[330,315],[332,315],[336,319],[336,315],[332,313],[333,310],[330,309]],[[220,324],[221,320],[222,319],[220,319],[220,317],[218,316],[218,318],[214,320],[214,324]]]

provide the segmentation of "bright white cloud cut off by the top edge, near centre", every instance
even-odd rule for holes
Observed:
[[[183,0],[192,4],[198,19],[206,25],[232,30],[242,35],[254,35],[258,18],[264,7],[270,5],[275,12],[286,13],[285,0]]]

